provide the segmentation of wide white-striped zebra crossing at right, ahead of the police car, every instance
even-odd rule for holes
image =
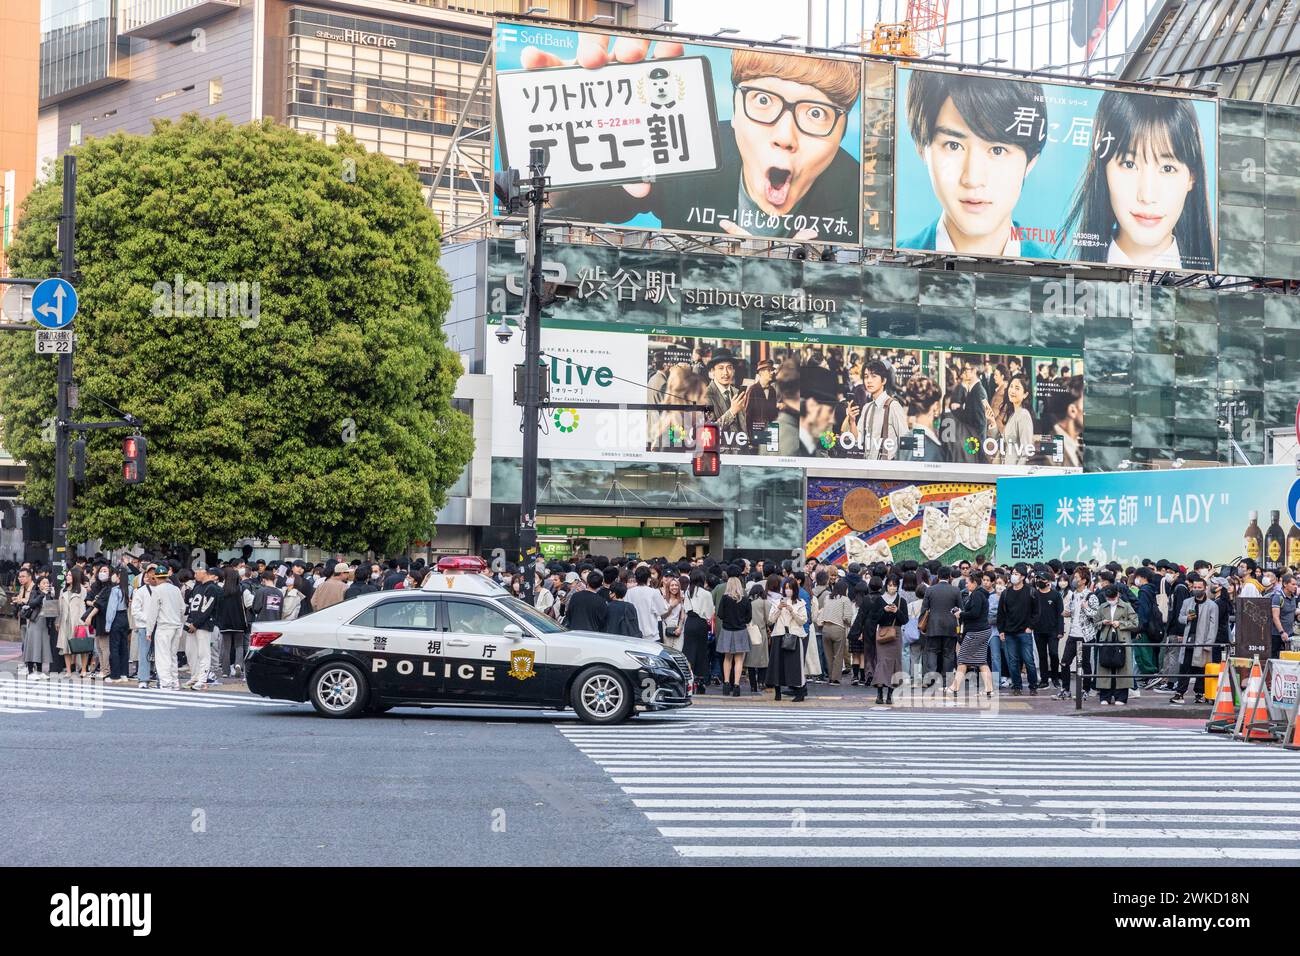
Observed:
[[[692,708],[559,732],[703,862],[1300,860],[1300,753],[1200,730]]]

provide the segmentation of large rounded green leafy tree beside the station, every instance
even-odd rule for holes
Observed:
[[[139,418],[148,477],[122,483],[125,432],[88,434],[70,538],[391,551],[429,537],[472,433],[451,408],[451,293],[415,173],[344,135],[195,116],[90,140],[77,164],[74,418],[113,418],[96,399]],[[61,189],[56,170],[27,196],[12,274],[57,274]],[[256,313],[192,315],[192,295],[177,313],[178,277],[247,282]],[[4,444],[47,514],[53,414],[55,359],[0,333]]]

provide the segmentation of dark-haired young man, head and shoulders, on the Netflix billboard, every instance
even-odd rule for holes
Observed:
[[[907,127],[942,212],[900,248],[1050,259],[1011,219],[1046,143],[1039,83],[913,70]],[[901,157],[900,157],[901,159]]]

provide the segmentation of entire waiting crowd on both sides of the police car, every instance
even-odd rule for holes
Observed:
[[[422,559],[251,561],[185,567],[150,554],[25,563],[9,600],[29,680],[103,679],[202,691],[242,675],[248,635],[380,589],[419,588]],[[515,566],[489,570],[523,594]],[[1235,598],[1271,601],[1271,656],[1291,646],[1300,580],[1254,561],[1191,568],[1049,561],[996,566],[902,561],[846,567],[711,558],[538,562],[534,605],[573,630],[662,643],[689,659],[696,692],[802,701],[809,684],[1084,696],[1124,705],[1143,691],[1204,702],[1204,665],[1232,641]],[[1195,684],[1193,684],[1195,682]],[[870,693],[870,691],[868,691]]]

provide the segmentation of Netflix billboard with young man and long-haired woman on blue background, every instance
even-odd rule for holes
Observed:
[[[1214,271],[1213,100],[901,66],[896,79],[897,248]]]

